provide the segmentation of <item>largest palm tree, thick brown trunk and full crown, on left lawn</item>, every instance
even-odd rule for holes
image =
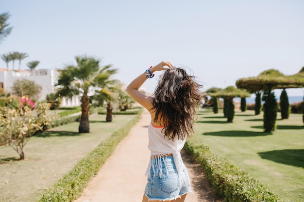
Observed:
[[[89,107],[90,101],[88,93],[95,89],[106,89],[106,85],[113,83],[110,76],[117,73],[117,69],[111,69],[111,65],[100,67],[100,59],[94,57],[76,56],[77,66],[68,65],[60,71],[58,77],[59,86],[57,93],[65,97],[82,94],[81,98],[81,120],[79,124],[79,133],[88,133],[89,127]],[[109,94],[109,93],[107,93]]]

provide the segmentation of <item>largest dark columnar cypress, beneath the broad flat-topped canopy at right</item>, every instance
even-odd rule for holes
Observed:
[[[263,93],[264,103],[264,129],[265,132],[271,132],[276,129],[276,116],[278,103],[276,102],[274,93],[271,89],[265,90]]]

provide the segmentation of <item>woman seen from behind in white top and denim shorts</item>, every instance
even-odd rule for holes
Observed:
[[[153,96],[138,91],[154,72],[165,70]],[[202,100],[195,82],[182,68],[160,62],[135,78],[127,92],[149,110],[152,122],[148,127],[151,158],[146,174],[148,183],[143,202],[184,202],[191,192],[190,180],[180,151],[186,138],[193,133],[196,108]]]

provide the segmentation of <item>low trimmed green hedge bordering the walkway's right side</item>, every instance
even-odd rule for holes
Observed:
[[[210,152],[195,136],[187,139],[185,150],[201,164],[213,189],[225,202],[279,202],[265,186],[224,157]]]

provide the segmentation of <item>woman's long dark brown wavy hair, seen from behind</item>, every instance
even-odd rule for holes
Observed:
[[[199,90],[202,87],[183,68],[172,67],[161,75],[153,94],[152,110],[155,111],[154,122],[158,118],[163,120],[164,137],[186,140],[192,135],[196,109],[202,101]]]

